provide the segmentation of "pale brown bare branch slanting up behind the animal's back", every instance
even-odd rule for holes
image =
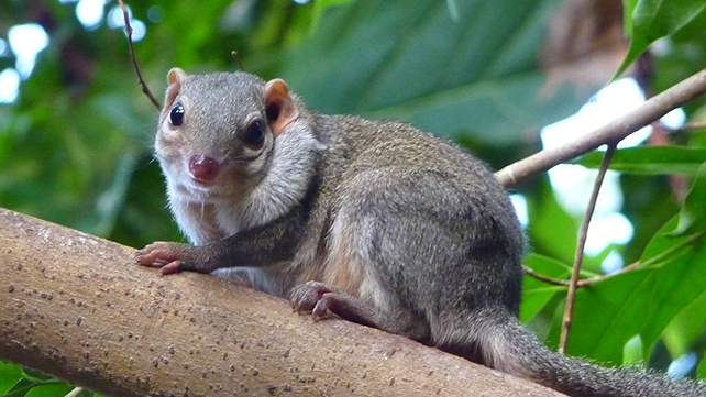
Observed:
[[[632,132],[660,119],[670,110],[706,92],[706,69],[648,99],[641,107],[619,117],[565,145],[539,152],[498,170],[495,176],[505,187],[517,186],[549,168],[575,158],[609,143],[618,142]]]

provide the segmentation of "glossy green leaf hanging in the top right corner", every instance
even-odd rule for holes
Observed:
[[[655,40],[684,27],[706,9],[694,0],[626,0],[626,29],[630,49],[616,76],[622,74]]]

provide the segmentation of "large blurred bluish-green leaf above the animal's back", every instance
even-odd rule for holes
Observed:
[[[555,0],[358,0],[329,8],[280,75],[328,113],[393,118],[501,144],[575,111],[562,87],[540,95],[541,47]]]

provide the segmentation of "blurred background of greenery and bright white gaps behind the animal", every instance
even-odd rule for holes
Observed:
[[[495,169],[588,133],[706,65],[701,13],[599,92],[628,51],[619,0],[126,4],[140,68],[159,100],[170,67],[238,70],[231,55],[238,51],[245,70],[284,78],[315,110],[408,121],[459,142]],[[684,126],[698,120],[703,104],[671,112],[625,144],[705,146],[698,125]],[[184,241],[152,157],[157,114],[132,69],[117,1],[0,1],[0,207],[135,247]],[[655,233],[674,222],[704,161],[681,174],[608,175],[584,275],[643,257]],[[533,253],[528,265],[539,273],[569,275],[595,177],[588,168],[563,165],[511,191]],[[644,286],[615,278],[617,287],[603,288],[629,295]],[[706,313],[698,309],[706,307],[706,280],[697,279],[679,310],[659,321],[646,315],[661,316],[651,298],[620,304],[619,294],[607,293],[605,304],[614,306],[604,312],[586,300],[576,321],[588,326],[585,333],[576,326],[569,352],[693,375],[706,346]],[[526,282],[522,320],[553,345],[564,296],[563,287]]]

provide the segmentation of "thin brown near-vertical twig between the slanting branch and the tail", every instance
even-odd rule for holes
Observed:
[[[598,169],[598,176],[593,186],[593,191],[591,192],[591,199],[588,200],[588,208],[586,208],[586,216],[584,221],[581,224],[581,230],[578,231],[578,241],[576,243],[576,256],[574,258],[574,267],[571,273],[571,279],[569,283],[569,293],[566,294],[566,309],[564,310],[564,320],[562,322],[561,339],[559,341],[559,351],[563,353],[566,350],[566,343],[569,341],[569,330],[571,329],[571,320],[574,313],[574,301],[576,300],[576,289],[578,284],[578,274],[581,272],[581,262],[584,256],[584,246],[586,245],[586,238],[588,236],[588,225],[591,224],[591,218],[593,217],[593,211],[596,209],[596,201],[598,200],[598,192],[600,192],[600,186],[603,185],[603,179],[606,176],[608,170],[608,165],[610,164],[610,158],[615,153],[618,141],[614,141],[608,144],[606,154],[603,157],[600,163],[600,168]]]

